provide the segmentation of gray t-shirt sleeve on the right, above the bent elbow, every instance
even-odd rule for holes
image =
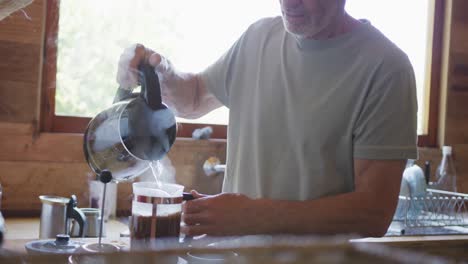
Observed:
[[[411,66],[375,80],[354,126],[354,158],[417,159],[417,108]]]

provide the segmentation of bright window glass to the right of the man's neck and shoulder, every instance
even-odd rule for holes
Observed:
[[[402,8],[404,7],[404,8]],[[348,0],[347,11],[356,18],[366,18],[408,55],[416,76],[418,97],[418,134],[427,133],[426,80],[430,69],[430,1],[427,0]]]

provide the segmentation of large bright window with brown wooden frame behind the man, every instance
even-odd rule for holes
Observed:
[[[438,72],[428,65],[432,53],[439,52],[432,48],[438,2],[347,1],[351,15],[369,19],[409,55],[417,76],[418,134],[424,145],[428,135],[435,134],[430,131],[429,87],[431,73]],[[160,52],[181,71],[198,72],[249,24],[280,14],[277,0],[54,0],[48,4],[43,128],[62,132],[83,131],[90,117],[111,104],[119,56],[131,44],[139,42]],[[56,46],[50,41],[54,39]],[[225,137],[227,118],[223,107],[198,120],[178,121],[188,129],[215,124],[215,134]],[[190,136],[190,131],[183,136]]]

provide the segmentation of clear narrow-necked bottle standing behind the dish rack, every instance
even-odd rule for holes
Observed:
[[[435,189],[456,192],[457,191],[457,175],[452,159],[452,147],[442,147],[442,160],[436,170]]]

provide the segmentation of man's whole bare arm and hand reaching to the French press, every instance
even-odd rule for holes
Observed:
[[[184,204],[189,235],[260,233],[383,236],[398,201],[402,160],[355,160],[355,191],[310,201],[249,199],[239,194]]]

